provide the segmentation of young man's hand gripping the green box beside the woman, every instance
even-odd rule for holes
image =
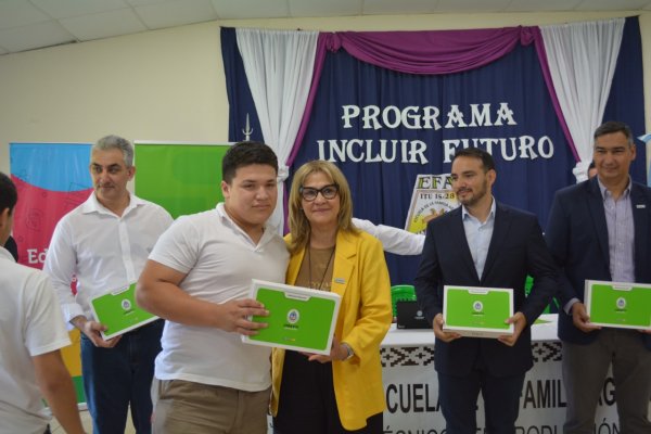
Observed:
[[[259,329],[267,327],[266,322],[253,322],[248,320],[251,316],[269,316],[269,310],[265,309],[265,306],[255,299],[233,299],[216,306],[219,309],[216,327],[221,330],[253,336],[258,334],[257,331]]]

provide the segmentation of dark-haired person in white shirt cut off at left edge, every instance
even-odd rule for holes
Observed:
[[[16,202],[14,183],[0,173],[0,433],[49,432],[41,396],[66,433],[82,433],[60,353],[71,340],[54,290],[44,273],[16,264],[2,247]]]

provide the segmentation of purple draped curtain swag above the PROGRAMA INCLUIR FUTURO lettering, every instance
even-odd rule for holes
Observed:
[[[311,88],[301,128],[286,165],[294,163],[303,142],[311,114],[326,50],[336,52],[341,48],[354,58],[408,74],[452,74],[474,69],[505,56],[518,43],[534,42],[540,59],[540,67],[551,95],[554,111],[565,132],[575,157],[578,155],[570,136],[565,119],[556,97],[542,37],[538,27],[502,27],[470,30],[422,31],[337,31],[319,35]]]

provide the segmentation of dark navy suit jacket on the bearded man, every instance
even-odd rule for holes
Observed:
[[[534,288],[525,297],[527,273],[534,277]],[[459,206],[427,225],[414,286],[430,323],[443,314],[443,286],[454,284],[513,289],[515,311],[522,311],[532,324],[556,292],[556,275],[536,216],[497,203],[483,276],[475,270]],[[533,366],[531,329],[527,326],[523,330],[513,347],[492,339],[436,341],[434,362],[438,372],[450,375],[465,375],[476,362],[496,376],[523,373]]]

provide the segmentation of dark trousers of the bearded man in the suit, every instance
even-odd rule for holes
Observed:
[[[484,398],[486,433],[513,434],[520,410],[524,373],[494,376],[473,369],[469,375],[452,376],[438,372],[438,398],[447,434],[475,434],[480,391]]]

